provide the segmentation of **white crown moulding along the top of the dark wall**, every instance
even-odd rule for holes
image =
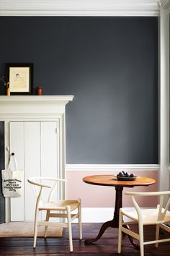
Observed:
[[[0,16],[158,16],[158,0],[1,0]]]

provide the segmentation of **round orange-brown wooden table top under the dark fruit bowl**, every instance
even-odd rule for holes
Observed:
[[[88,184],[112,187],[135,187],[135,186],[149,186],[156,183],[155,179],[138,176],[135,181],[118,181],[114,175],[93,175],[86,176],[83,181]]]

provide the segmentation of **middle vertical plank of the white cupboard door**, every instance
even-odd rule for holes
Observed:
[[[40,176],[40,121],[24,121],[25,221],[35,216],[35,195],[27,179]]]

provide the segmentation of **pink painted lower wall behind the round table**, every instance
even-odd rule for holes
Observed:
[[[82,208],[112,208],[115,206],[115,187],[104,187],[86,184],[82,181],[84,176],[102,175],[102,171],[66,171],[66,197],[69,199],[81,198]],[[106,174],[106,173],[105,173]],[[115,175],[113,172],[107,174]],[[151,192],[158,190],[158,171],[133,171],[138,176],[147,176],[156,179],[156,184],[147,187],[132,187],[123,189],[125,191],[134,192]],[[140,205],[142,207],[155,206],[156,197],[142,197]],[[133,204],[129,196],[123,195],[122,205],[124,207],[132,207]]]

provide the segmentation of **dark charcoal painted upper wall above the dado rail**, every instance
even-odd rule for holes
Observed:
[[[0,17],[0,75],[33,62],[66,108],[66,163],[158,163],[157,17]],[[4,93],[1,86],[0,93]]]

